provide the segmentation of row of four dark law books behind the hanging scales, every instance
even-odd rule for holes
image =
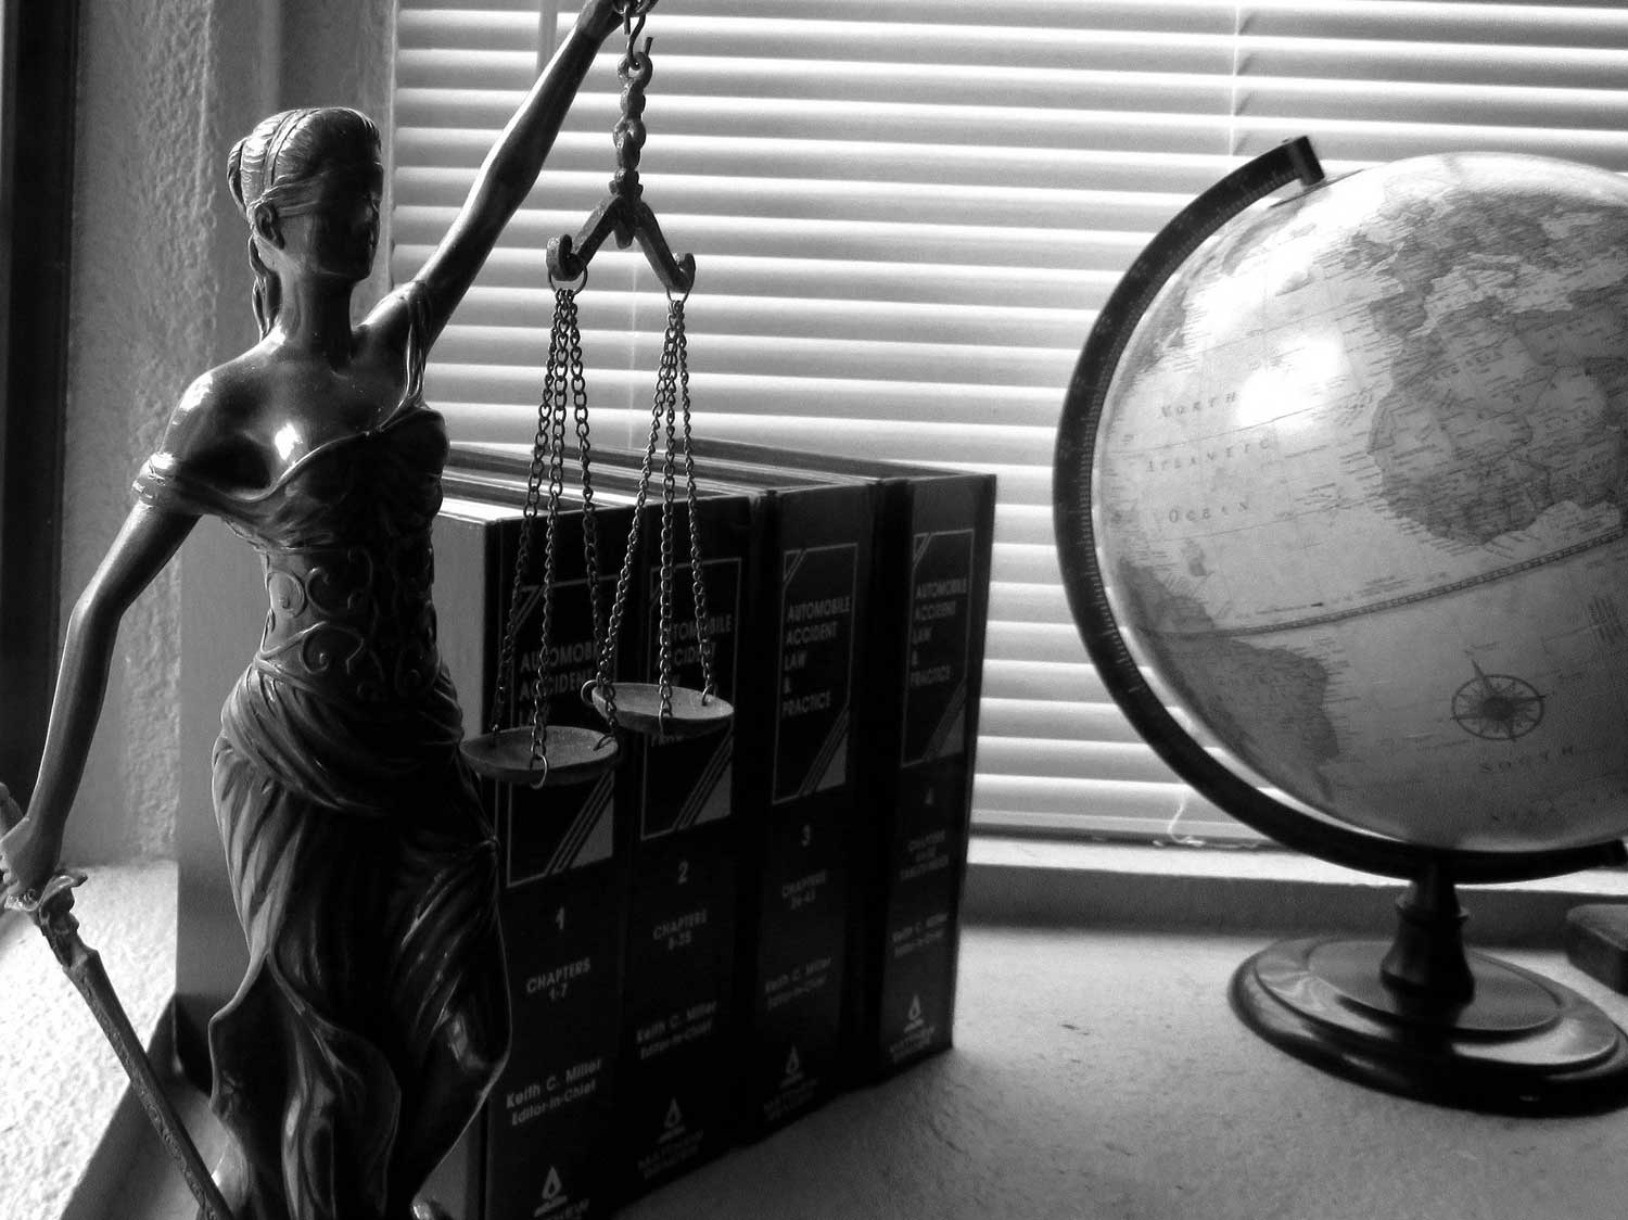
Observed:
[[[640,453],[596,450],[601,611]],[[540,529],[506,707],[497,665],[529,453],[457,446],[436,521],[441,650],[470,731],[597,725],[580,495]],[[514,1038],[435,1189],[482,1220],[581,1220],[951,1041],[993,477],[697,441],[697,520],[728,731],[624,735],[593,782],[492,783]],[[659,474],[617,678],[653,681]],[[674,679],[702,684],[682,479]],[[539,521],[540,526],[540,521]],[[540,669],[540,673],[539,673]],[[435,1192],[435,1191],[431,1191]]]

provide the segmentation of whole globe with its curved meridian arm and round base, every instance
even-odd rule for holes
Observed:
[[[1628,858],[1625,233],[1600,169],[1325,181],[1293,140],[1166,225],[1070,384],[1058,559],[1120,709],[1223,810],[1410,883],[1389,941],[1283,940],[1229,989],[1374,1088],[1628,1104],[1628,1034],[1467,950],[1457,899]]]

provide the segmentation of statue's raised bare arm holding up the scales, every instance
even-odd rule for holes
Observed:
[[[622,0],[622,7],[627,3],[632,0]],[[422,339],[427,345],[441,334],[446,319],[469,292],[475,274],[497,244],[503,226],[542,173],[542,163],[560,134],[560,125],[594,62],[594,54],[612,31],[622,28],[622,7],[617,0],[588,0],[583,5],[576,26],[537,77],[497,145],[487,153],[453,226],[414,277],[420,288],[425,326]],[[399,308],[400,300],[392,295],[381,303],[381,309]]]

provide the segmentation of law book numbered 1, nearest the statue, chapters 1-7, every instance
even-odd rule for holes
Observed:
[[[435,524],[441,652],[466,731],[531,722],[539,678],[550,725],[597,726],[580,699],[597,655],[580,505],[562,508],[549,655],[542,520],[523,578],[505,705],[493,707],[523,518],[454,477]],[[601,603],[609,608],[630,508],[601,503]],[[638,608],[630,614],[637,622]],[[627,632],[624,632],[627,640]],[[495,715],[497,710],[497,715]],[[614,1137],[622,928],[628,868],[615,842],[617,772],[580,785],[495,783],[482,798],[498,839],[500,917],[513,1039],[487,1106],[431,1181],[474,1220],[589,1220],[614,1207],[604,1150]]]

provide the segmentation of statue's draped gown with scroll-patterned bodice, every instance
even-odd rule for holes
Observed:
[[[137,479],[148,503],[246,538],[270,598],[213,754],[249,946],[210,1023],[239,1220],[386,1217],[391,1183],[433,1168],[400,1163],[427,1152],[407,1140],[423,1108],[448,1103],[423,1090],[431,1047],[485,1031],[469,1104],[506,1042],[495,844],[430,601],[448,440],[410,363],[387,419],[270,485],[221,485],[168,441]]]

